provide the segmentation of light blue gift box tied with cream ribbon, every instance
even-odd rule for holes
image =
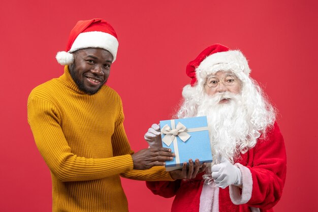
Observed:
[[[166,170],[181,169],[189,159],[211,163],[212,153],[206,116],[160,121],[163,147],[171,148],[176,157],[166,161]]]

